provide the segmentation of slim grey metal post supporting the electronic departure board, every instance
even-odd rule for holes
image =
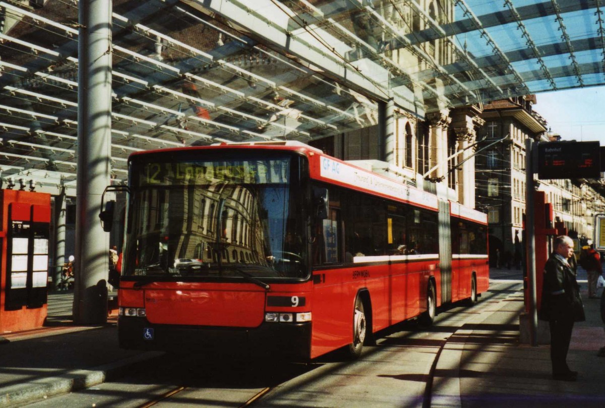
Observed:
[[[529,343],[538,345],[538,312],[535,289],[534,140],[525,140],[525,229],[526,268],[529,296]]]

